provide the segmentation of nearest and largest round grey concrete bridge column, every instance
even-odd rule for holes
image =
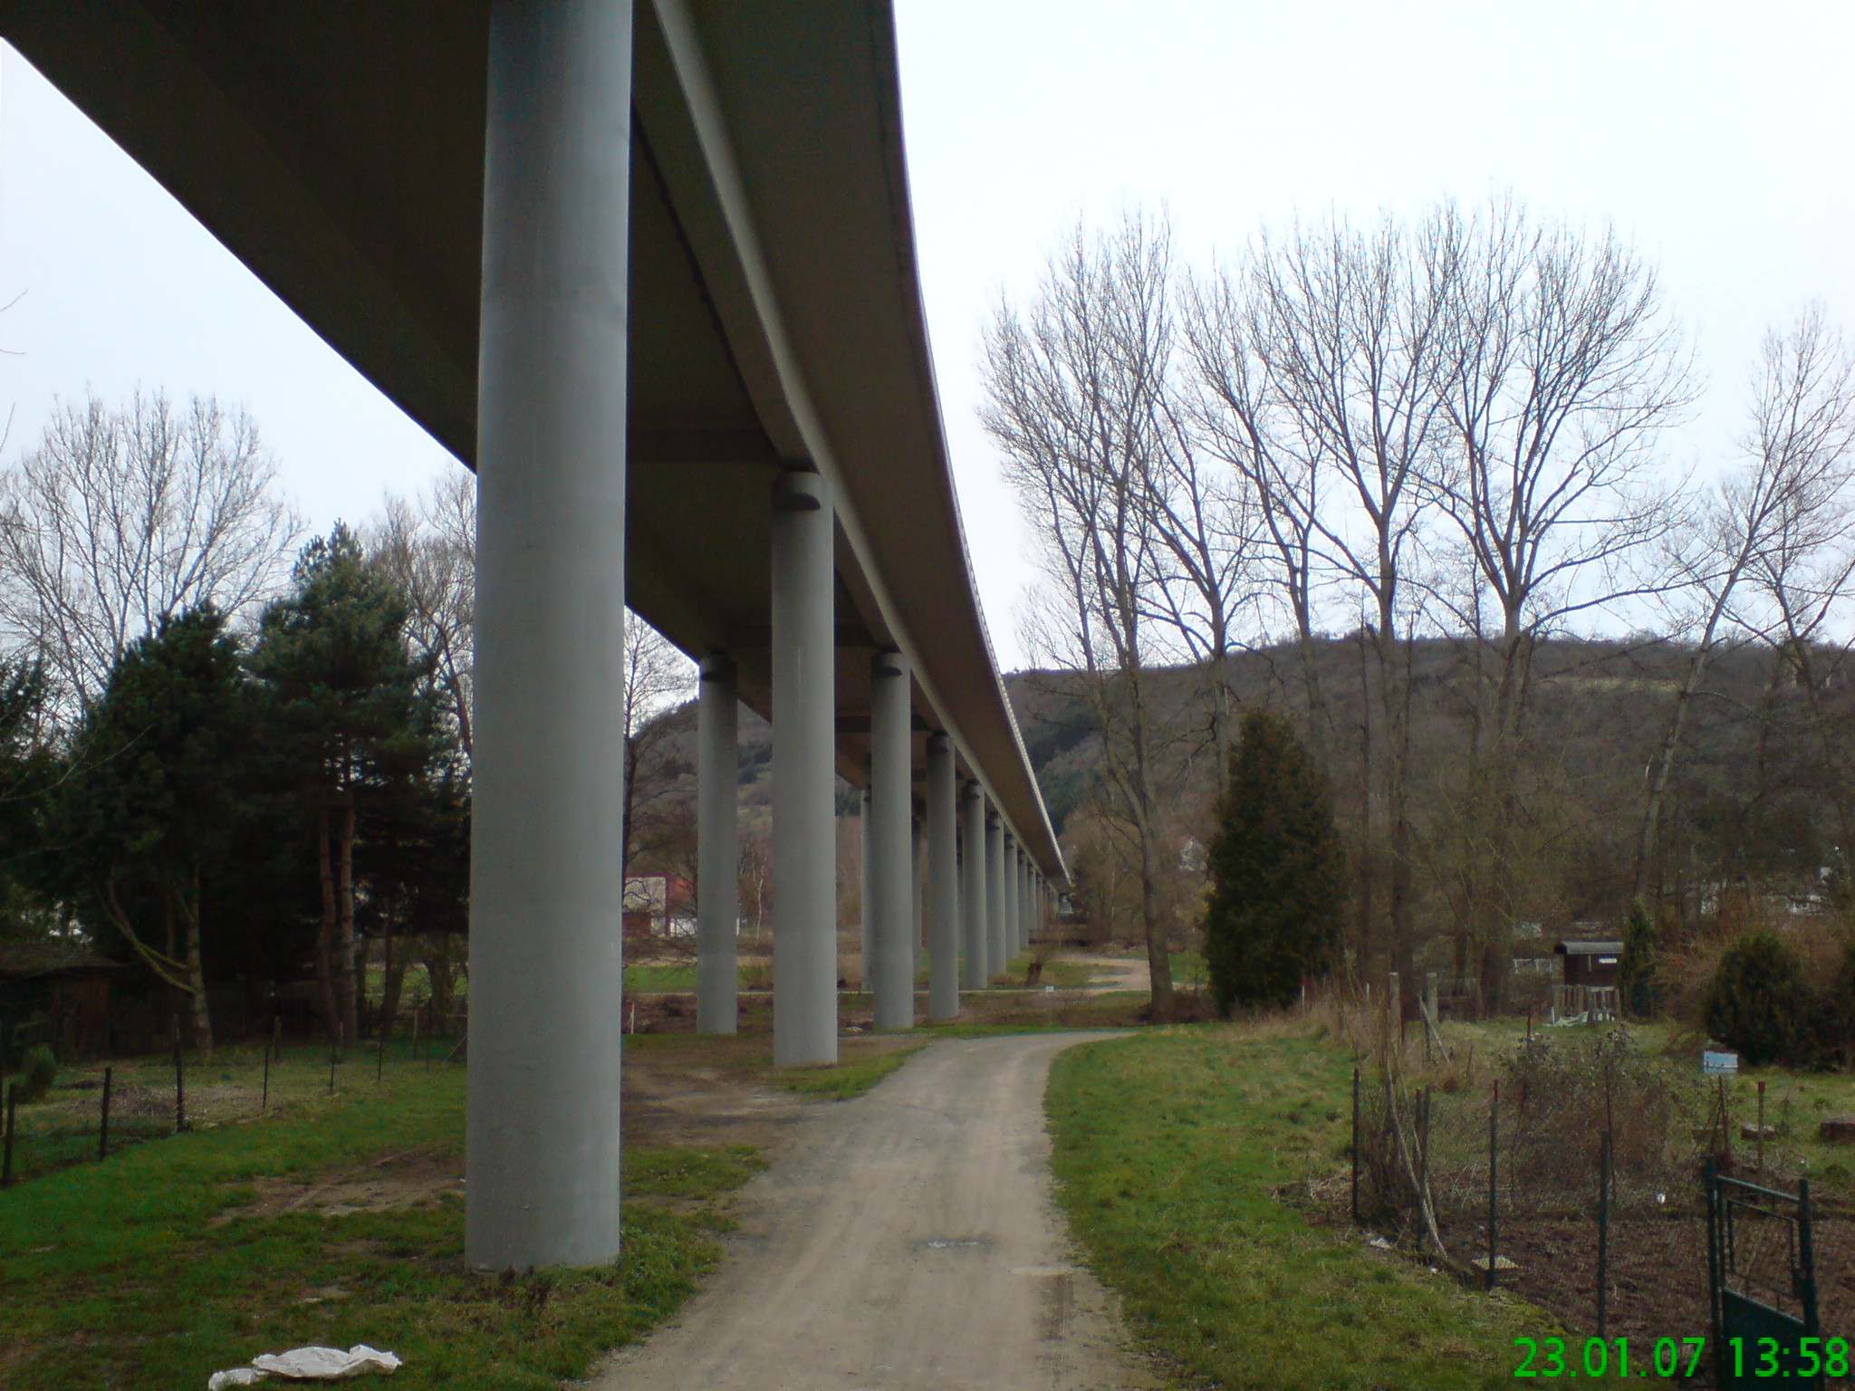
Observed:
[[[631,0],[493,0],[466,1259],[618,1256]]]

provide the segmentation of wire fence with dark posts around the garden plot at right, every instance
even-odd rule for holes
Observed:
[[[1397,1055],[1358,1074],[1356,1220],[1590,1335],[1708,1337],[1708,1159],[1785,1193],[1807,1178],[1788,1117],[1738,1115],[1723,1085],[1679,1079],[1623,1029],[1534,1033],[1467,1079],[1404,1079]],[[1810,1207],[1822,1330],[1849,1337],[1855,1202],[1818,1187]],[[1796,1252],[1773,1252],[1757,1269],[1783,1308]]]

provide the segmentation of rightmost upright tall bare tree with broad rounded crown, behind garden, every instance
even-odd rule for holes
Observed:
[[[1482,1000],[1499,1007],[1542,810],[1519,786],[1532,653],[1577,614],[1640,593],[1629,562],[1670,517],[1655,447],[1694,384],[1655,269],[1608,228],[1540,221],[1504,198],[1475,215],[1443,204],[1419,249],[1445,310],[1447,425],[1426,482],[1465,601],[1447,586],[1436,595],[1475,673],[1458,790],[1469,838],[1451,857],[1456,937],[1475,944]]]

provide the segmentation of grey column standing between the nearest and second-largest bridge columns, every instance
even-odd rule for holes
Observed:
[[[740,1016],[740,690],[733,658],[703,658],[696,697],[696,1031]]]

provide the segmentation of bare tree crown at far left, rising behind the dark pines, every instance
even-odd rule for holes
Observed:
[[[195,397],[61,406],[0,475],[0,623],[59,684],[67,714],[163,618],[250,614],[282,581],[299,521],[243,410]]]

